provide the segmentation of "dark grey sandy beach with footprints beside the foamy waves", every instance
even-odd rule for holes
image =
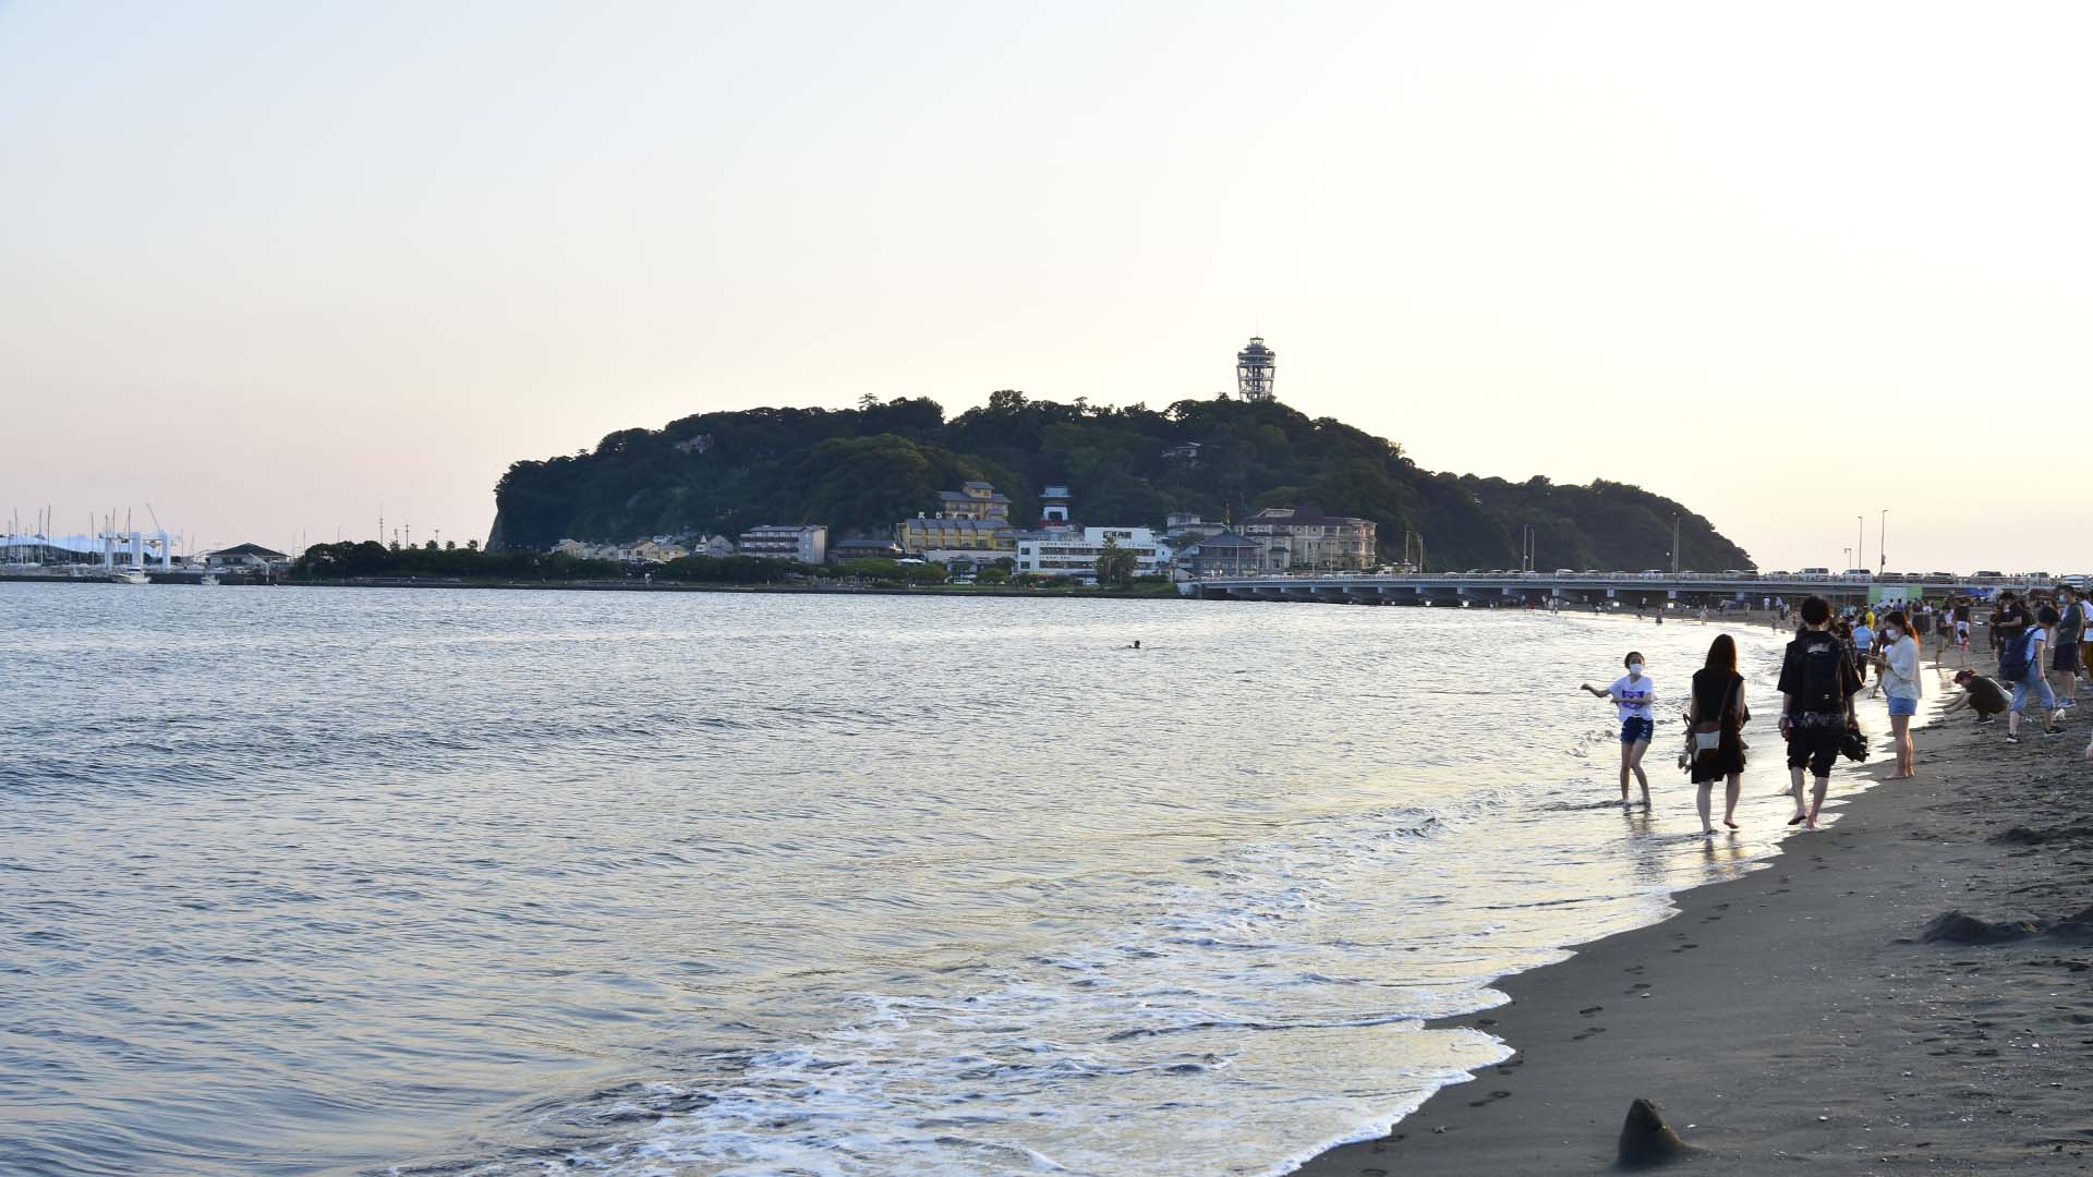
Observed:
[[[1934,723],[1917,779],[1836,777],[1838,821],[1766,869],[1509,978],[1507,1005],[1442,1026],[1513,1058],[1298,1175],[1601,1173],[1639,1097],[1693,1173],[2093,1169],[2087,727],[2003,739]]]

